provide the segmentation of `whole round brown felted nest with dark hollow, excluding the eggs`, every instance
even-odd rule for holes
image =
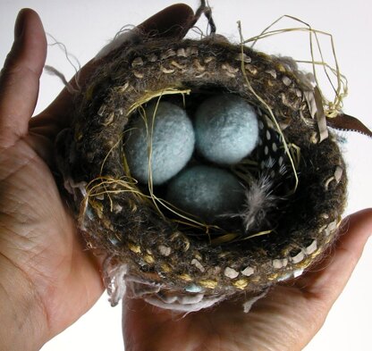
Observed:
[[[265,218],[250,230],[239,216],[208,223],[177,211],[162,187],[140,185],[126,163],[126,131],[140,108],[161,99],[192,113],[215,94],[241,96],[258,112],[260,142],[231,171],[247,188],[270,180],[264,195],[277,202],[258,211]],[[76,96],[57,161],[88,247],[107,256],[113,304],[126,285],[153,305],[197,310],[241,292],[259,295],[322,256],[341,221],[347,180],[334,136],[319,133],[316,96],[292,60],[216,35],[143,38],[107,56]]]

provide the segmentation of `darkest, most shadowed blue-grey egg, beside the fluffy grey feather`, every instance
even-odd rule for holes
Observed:
[[[166,200],[205,221],[214,221],[219,215],[239,211],[244,191],[231,172],[198,165],[186,168],[170,181]]]

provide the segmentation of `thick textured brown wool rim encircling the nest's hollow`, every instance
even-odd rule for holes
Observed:
[[[314,90],[293,67],[275,56],[248,47],[241,52],[241,46],[207,38],[148,41],[118,50],[97,69],[77,96],[72,129],[63,131],[57,149],[80,230],[89,247],[109,257],[106,285],[111,284],[113,295],[124,276],[145,282],[150,288],[137,296],[149,299],[159,291],[209,298],[258,292],[300,275],[334,240],[346,197],[345,166],[332,135],[320,142],[309,108]],[[285,227],[276,230],[280,235],[267,237],[274,238],[271,248],[264,237],[214,247],[193,240],[128,187],[123,167],[128,112],[170,89],[190,89],[192,95],[208,88],[245,98],[266,120],[274,113],[288,142],[300,146],[297,199],[286,211],[288,222],[281,221]],[[299,200],[305,196],[306,201]]]

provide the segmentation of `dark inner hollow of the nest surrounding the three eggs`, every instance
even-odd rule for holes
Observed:
[[[123,164],[125,165],[125,173],[131,176],[131,169],[128,166],[128,162],[125,157],[124,146],[126,139],[131,134],[133,124],[138,122],[139,119],[145,121],[147,124],[147,137],[148,137],[148,162],[149,153],[151,149],[151,136],[150,126],[148,125],[148,116],[144,115],[146,107],[150,104],[156,105],[159,102],[167,102],[174,104],[182,108],[190,116],[192,123],[195,125],[195,113],[198,106],[206,101],[211,96],[221,96],[232,94],[227,89],[218,86],[207,85],[204,87],[191,88],[190,93],[185,94],[172,94],[164,96],[156,96],[149,99],[147,103],[139,105],[135,111],[129,115],[129,121],[125,125],[123,132]],[[250,105],[253,105],[249,101]],[[257,106],[255,106],[256,111],[258,111],[258,122],[259,122],[259,141],[254,147],[254,150],[249,153],[249,155],[243,157],[238,163],[231,165],[217,164],[213,161],[208,160],[204,155],[198,150],[193,151],[192,156],[188,163],[183,167],[183,169],[192,167],[193,165],[207,165],[211,167],[217,167],[218,169],[223,169],[234,174],[237,179],[239,179],[242,187],[248,192],[249,188],[256,187],[256,190],[262,190],[258,194],[253,194],[253,196],[258,196],[261,207],[261,213],[250,213],[251,218],[249,221],[257,221],[258,223],[246,223],[244,225],[244,215],[241,212],[238,213],[225,213],[225,215],[220,215],[216,219],[203,220],[198,215],[192,215],[182,209],[177,208],[172,203],[165,201],[165,196],[167,192],[167,186],[170,180],[160,185],[154,185],[151,182],[151,177],[149,175],[149,180],[145,184],[138,180],[134,180],[136,183],[136,191],[139,195],[142,195],[148,202],[153,201],[153,209],[161,216],[164,216],[166,221],[175,223],[182,233],[188,235],[191,239],[202,240],[210,245],[224,245],[231,241],[241,241],[247,238],[260,237],[261,235],[275,235],[275,227],[283,216],[283,213],[275,212],[273,210],[277,209],[281,203],[288,201],[288,197],[291,196],[292,188],[294,184],[293,175],[291,174],[290,167],[287,164],[287,155],[285,155],[283,141],[281,140],[279,133],[275,130],[274,124],[269,121]],[[154,121],[156,121],[156,113],[154,113]],[[151,119],[152,119],[151,118]],[[152,121],[151,121],[152,122]],[[270,139],[267,139],[267,133],[270,135]],[[219,140],[216,140],[218,143]],[[274,146],[274,147],[273,147]],[[299,153],[300,157],[300,147],[295,148]],[[267,152],[267,148],[269,151]],[[281,159],[280,159],[281,158]],[[280,160],[279,160],[280,159]],[[278,164],[278,160],[280,164]],[[297,161],[300,166],[300,160]],[[275,164],[276,163],[276,164]],[[148,167],[151,170],[151,167]],[[181,170],[182,171],[182,170]],[[181,171],[177,172],[179,174]],[[171,178],[173,180],[173,177]],[[249,194],[246,194],[249,196]],[[246,211],[249,212],[248,199],[245,199],[245,204],[241,204],[240,207],[246,207]],[[242,210],[242,209],[241,209]],[[247,213],[247,215],[249,215]],[[265,217],[265,218],[261,218]],[[246,219],[245,222],[248,220]],[[246,228],[244,228],[246,227]],[[276,233],[277,234],[277,233]],[[258,239],[259,241],[260,239]]]

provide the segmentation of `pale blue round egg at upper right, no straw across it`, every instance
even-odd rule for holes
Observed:
[[[199,105],[195,120],[196,147],[209,161],[239,163],[258,143],[258,118],[240,96],[213,96]]]

